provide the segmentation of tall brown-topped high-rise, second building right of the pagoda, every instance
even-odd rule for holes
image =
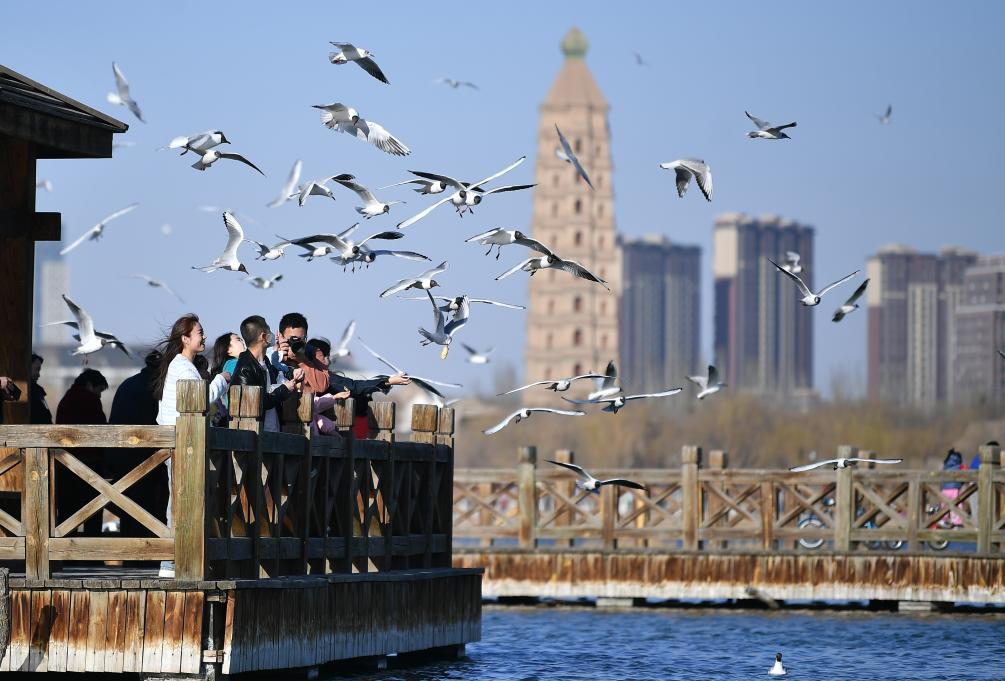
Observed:
[[[732,388],[789,401],[811,399],[813,315],[795,285],[769,262],[799,253],[813,286],[813,228],[777,216],[716,218],[715,359]]]

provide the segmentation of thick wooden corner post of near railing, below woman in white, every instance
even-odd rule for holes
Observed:
[[[175,525],[175,578],[206,579],[206,436],[209,386],[179,381],[172,461],[171,509]]]

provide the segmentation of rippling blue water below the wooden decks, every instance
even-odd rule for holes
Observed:
[[[329,678],[1005,679],[1005,615],[485,608],[469,659]],[[395,667],[398,668],[395,668]]]

